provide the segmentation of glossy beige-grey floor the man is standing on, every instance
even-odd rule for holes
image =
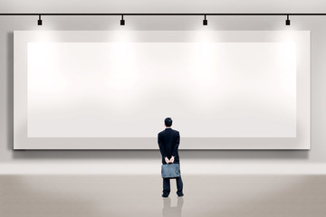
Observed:
[[[326,175],[0,175],[2,217],[326,216]]]

